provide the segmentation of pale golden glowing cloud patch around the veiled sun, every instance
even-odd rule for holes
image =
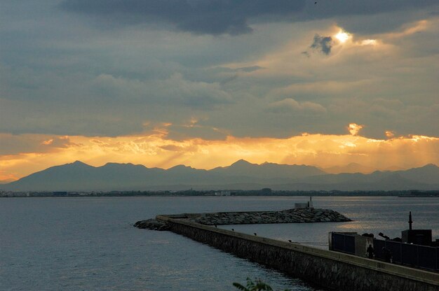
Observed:
[[[321,48],[320,50],[310,48],[313,37],[316,35],[322,37],[331,36],[332,41],[327,44],[330,45],[330,52],[328,54],[322,53],[320,51]],[[231,62],[224,64],[224,66],[233,69],[245,66],[260,66],[264,68],[264,70],[243,73],[243,77],[252,76],[266,80],[275,76],[282,78],[294,76],[296,78],[310,79],[313,76],[318,76],[318,72],[324,72],[325,69],[332,68],[332,66],[342,65],[346,59],[353,57],[356,59],[370,59],[372,61],[380,60],[384,57],[395,57],[395,46],[391,41],[388,42],[387,36],[386,34],[380,34],[377,36],[364,36],[362,38],[346,31],[342,27],[333,25],[325,29],[312,31],[308,35],[302,36],[299,40],[294,39],[285,43],[285,45],[271,50],[257,60],[252,60],[251,62]],[[313,79],[313,82],[309,82],[309,84],[313,87],[313,90],[319,90],[320,87],[314,85],[314,83],[339,83],[346,87],[351,82],[364,82],[365,80],[370,79],[357,79],[353,81],[349,78],[349,80],[339,81],[337,79],[329,80],[325,78],[322,80],[320,78],[320,80]],[[295,83],[293,85],[306,85],[306,83]]]

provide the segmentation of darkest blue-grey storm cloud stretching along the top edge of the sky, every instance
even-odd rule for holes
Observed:
[[[246,34],[249,21],[318,20],[351,15],[379,15],[416,10],[437,0],[64,0],[61,8],[107,20],[109,27],[159,23],[194,34]],[[389,17],[386,17],[389,20]],[[403,20],[401,20],[403,21]],[[398,21],[398,24],[403,23]],[[397,25],[398,25],[397,24]],[[389,25],[395,25],[391,22]],[[386,29],[383,21],[381,29]]]

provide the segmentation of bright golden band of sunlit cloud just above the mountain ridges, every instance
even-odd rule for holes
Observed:
[[[93,166],[102,166],[107,162],[130,162],[165,169],[177,164],[211,169],[227,166],[238,159],[257,164],[309,164],[323,168],[343,166],[351,162],[373,169],[407,169],[428,163],[439,164],[437,137],[368,139],[358,136],[361,127],[363,126],[351,123],[348,127],[350,134],[302,134],[288,139],[229,136],[225,140],[217,141],[173,141],[166,139],[163,134],[119,137],[69,136],[69,143],[53,146],[50,150],[28,150],[0,155],[0,180],[20,178],[49,166],[75,160]],[[48,136],[42,136],[42,139],[49,140]],[[53,136],[53,139],[60,139],[60,136]],[[35,145],[35,149],[39,150],[39,147],[41,142]]]

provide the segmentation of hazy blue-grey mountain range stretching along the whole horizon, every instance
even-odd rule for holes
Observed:
[[[251,164],[243,159],[210,170],[184,165],[170,169],[116,163],[90,166],[76,161],[0,185],[0,190],[258,190],[264,187],[273,190],[439,190],[439,167],[427,164],[401,171],[327,173],[315,166]]]

